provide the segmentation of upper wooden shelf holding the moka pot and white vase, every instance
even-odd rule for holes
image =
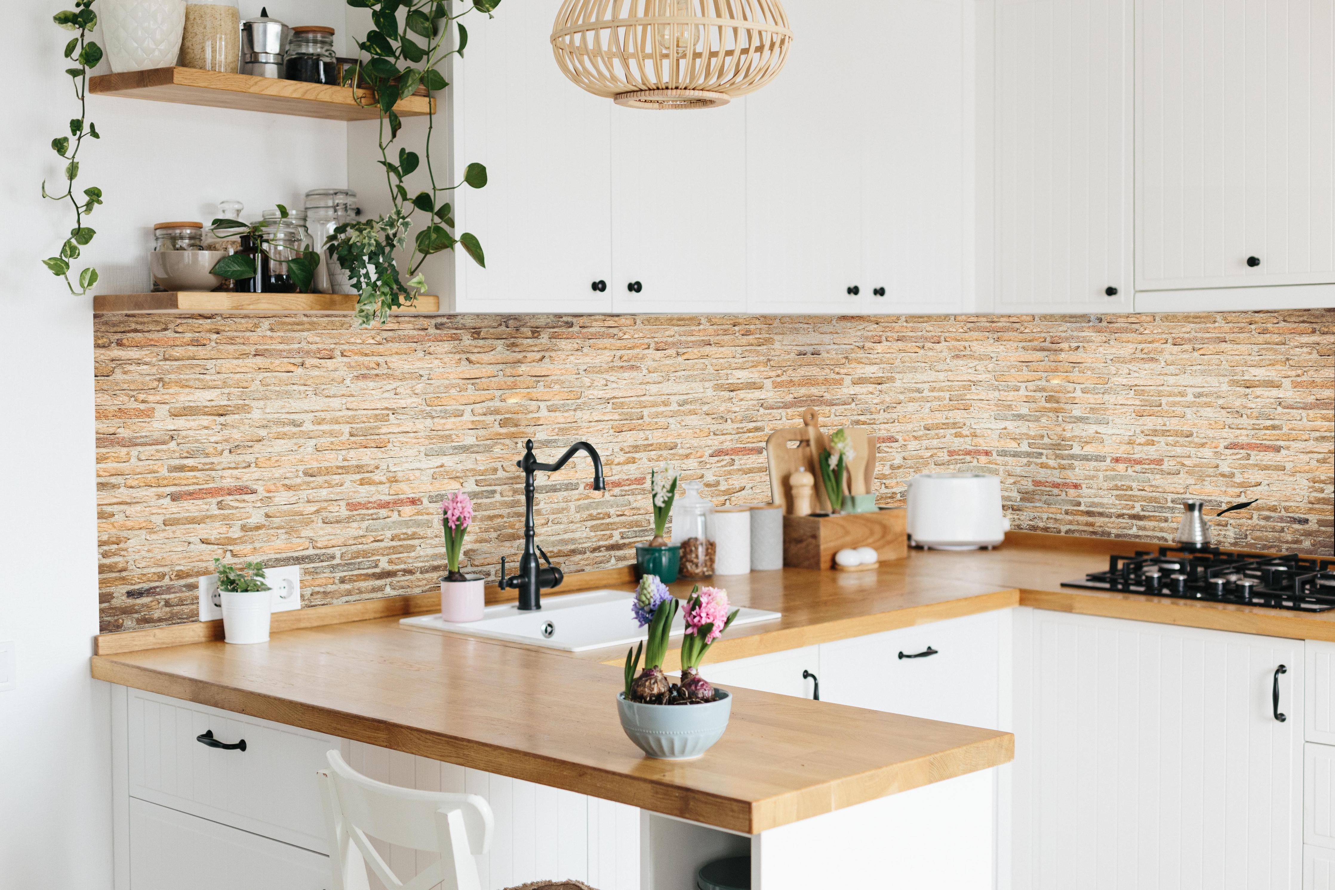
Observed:
[[[151,68],[119,75],[100,75],[88,81],[99,96],[128,96],[211,108],[267,111],[274,115],[323,117],[324,120],[375,120],[380,116],[370,89],[308,84],[300,80],[223,75],[198,68]],[[360,100],[364,104],[358,104]],[[435,112],[435,100],[409,96],[394,107],[400,117]]]

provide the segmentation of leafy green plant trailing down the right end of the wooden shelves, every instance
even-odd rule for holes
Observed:
[[[486,185],[486,167],[469,164],[463,181],[438,184],[431,164],[431,135],[435,125],[431,115],[427,116],[423,147],[423,172],[429,188],[414,195],[405,184],[422,167],[422,157],[417,152],[407,148],[399,148],[396,155],[391,152],[403,125],[394,105],[417,92],[418,87],[426,87],[429,99],[443,91],[449,83],[437,67],[451,55],[462,57],[469,45],[469,32],[457,19],[473,11],[491,17],[499,4],[501,0],[473,0],[463,12],[451,15],[445,0],[347,0],[350,7],[371,11],[374,29],[358,41],[358,64],[344,77],[348,85],[370,87],[376,97],[380,112],[379,164],[384,168],[394,204],[388,213],[378,219],[339,226],[328,243],[322,246],[347,272],[352,287],[358,288],[360,296],[356,318],[360,324],[375,320],[383,323],[390,310],[411,306],[426,288],[422,264],[433,254],[454,250],[458,244],[478,266],[486,267],[486,256],[477,236],[471,232],[454,236],[453,208],[443,200],[459,185]],[[453,49],[446,49],[451,24],[458,40]],[[398,263],[400,254],[406,254],[402,274]]]

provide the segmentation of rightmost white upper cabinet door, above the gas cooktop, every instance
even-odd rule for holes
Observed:
[[[1136,21],[1137,288],[1335,282],[1330,0],[1139,0]]]

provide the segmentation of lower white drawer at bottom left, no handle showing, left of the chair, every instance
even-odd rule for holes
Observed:
[[[327,890],[328,857],[258,834],[129,802],[131,890]]]

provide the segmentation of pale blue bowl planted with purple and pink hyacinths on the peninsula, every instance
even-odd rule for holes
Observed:
[[[728,611],[728,591],[697,586],[685,610],[668,592],[668,586],[645,575],[631,603],[639,626],[649,627],[649,639],[626,652],[625,689],[617,693],[621,727],[639,750],[666,761],[701,757],[724,735],[732,714],[732,695],[714,689],[700,675],[705,652],[740,610]],[[673,683],[663,674],[673,620],[684,611],[681,682]],[[639,658],[643,670],[635,675]]]

